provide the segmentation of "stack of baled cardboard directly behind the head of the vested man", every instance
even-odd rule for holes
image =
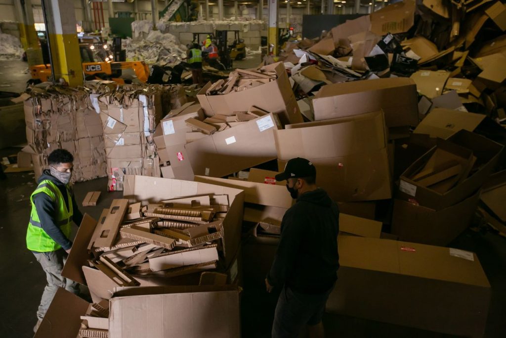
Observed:
[[[23,152],[30,154],[35,178],[48,168],[47,157],[58,148],[74,156],[72,181],[106,175],[105,147],[100,116],[88,91],[58,86],[31,88],[24,100],[26,138]],[[25,161],[24,166],[30,163]]]

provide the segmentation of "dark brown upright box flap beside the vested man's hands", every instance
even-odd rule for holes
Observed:
[[[88,265],[88,259],[90,259],[88,244],[92,239],[96,227],[97,221],[95,218],[85,213],[79,229],[77,230],[77,235],[75,235],[74,242],[72,243],[72,250],[70,250],[65,266],[63,267],[61,273],[63,277],[87,285],[85,275],[82,273],[82,266]]]

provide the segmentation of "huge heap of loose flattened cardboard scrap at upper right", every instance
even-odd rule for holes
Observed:
[[[405,0],[317,39],[288,42],[278,60],[302,96],[331,83],[408,77],[428,100],[456,91],[462,103],[502,120],[505,18],[500,1]]]

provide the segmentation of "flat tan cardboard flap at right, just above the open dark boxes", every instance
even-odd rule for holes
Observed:
[[[422,120],[414,133],[431,137],[448,138],[459,130],[473,131],[485,119],[485,115],[443,108],[435,108]]]

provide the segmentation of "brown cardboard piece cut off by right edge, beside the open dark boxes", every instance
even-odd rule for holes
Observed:
[[[500,219],[506,222],[506,170],[490,175],[483,187],[481,201]]]

